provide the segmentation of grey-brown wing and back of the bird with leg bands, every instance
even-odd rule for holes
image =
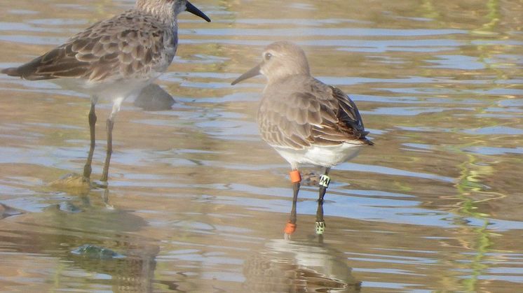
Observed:
[[[283,97],[268,93],[261,101],[258,124],[264,141],[273,146],[306,148],[315,145],[372,144],[355,103],[344,92],[318,80],[303,91]],[[306,91],[305,91],[306,90]]]

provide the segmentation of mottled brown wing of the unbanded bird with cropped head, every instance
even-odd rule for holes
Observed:
[[[153,18],[133,16],[129,12],[97,22],[32,62],[3,72],[28,80],[86,78],[98,81],[107,76],[119,79],[150,71],[162,57],[163,25]],[[146,25],[149,29],[140,29]]]

